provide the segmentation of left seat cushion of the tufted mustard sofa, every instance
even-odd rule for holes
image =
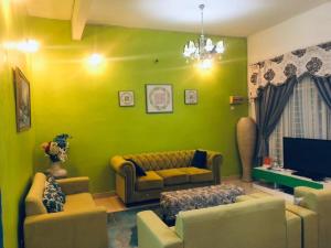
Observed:
[[[147,175],[139,176],[136,181],[138,191],[157,190],[163,187],[163,179],[153,171],[147,171]]]

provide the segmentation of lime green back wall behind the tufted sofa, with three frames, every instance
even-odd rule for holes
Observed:
[[[247,105],[231,110],[228,97],[247,95],[246,39],[224,37],[222,63],[201,73],[181,55],[196,34],[87,25],[77,42],[68,21],[33,18],[30,25],[42,43],[32,61],[36,171],[49,164],[39,144],[67,132],[70,175],[88,175],[94,192],[114,190],[108,161],[115,154],[204,148],[224,154],[223,176],[239,174],[235,125]],[[98,72],[84,61],[93,52],[107,57]],[[173,85],[173,114],[146,114],[148,83]],[[196,106],[183,104],[190,88],[199,90]],[[135,90],[136,106],[118,107],[118,90]]]

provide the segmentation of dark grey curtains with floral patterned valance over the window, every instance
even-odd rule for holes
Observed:
[[[331,108],[331,42],[298,50],[249,66],[249,96],[255,101],[258,141],[256,159],[269,153],[269,136],[280,120],[293,87],[305,77],[316,83]]]

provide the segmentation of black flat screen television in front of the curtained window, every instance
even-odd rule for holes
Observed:
[[[284,168],[312,180],[331,177],[331,140],[284,138]]]

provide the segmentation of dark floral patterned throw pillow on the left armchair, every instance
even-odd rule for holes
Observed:
[[[47,181],[45,182],[43,204],[49,213],[57,213],[63,211],[63,203],[60,195],[57,194],[56,188]]]

